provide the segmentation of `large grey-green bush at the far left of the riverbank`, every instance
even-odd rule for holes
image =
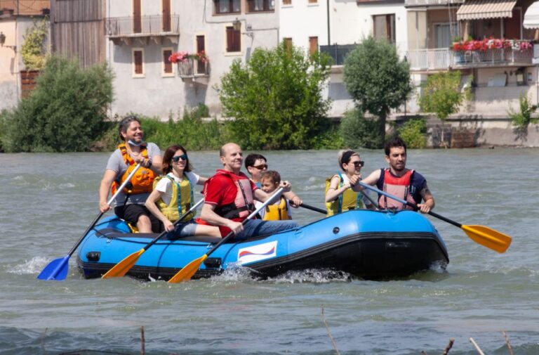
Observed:
[[[2,147],[11,152],[88,150],[104,128],[112,77],[105,64],[81,69],[74,60],[52,56],[30,96],[4,112]]]

